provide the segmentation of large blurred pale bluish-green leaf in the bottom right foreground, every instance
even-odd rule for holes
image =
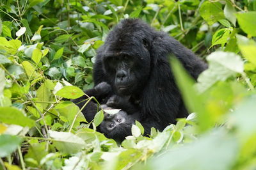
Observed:
[[[201,137],[195,143],[175,147],[174,150],[167,151],[159,157],[147,160],[147,164],[143,164],[137,169],[186,170],[191,167],[196,170],[232,169],[238,151],[236,137],[232,137],[223,129],[215,130],[211,134]],[[218,164],[212,164],[212,160]],[[210,164],[211,167],[209,167]]]

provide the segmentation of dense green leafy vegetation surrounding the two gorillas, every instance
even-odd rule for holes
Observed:
[[[0,3],[0,169],[256,169],[255,0]],[[97,49],[129,17],[168,32],[209,69],[195,83],[172,60],[196,114],[150,137],[136,122],[119,146],[61,99],[92,88]]]

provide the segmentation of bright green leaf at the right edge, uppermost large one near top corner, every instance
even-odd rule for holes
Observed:
[[[241,29],[250,36],[256,36],[256,12],[237,13],[237,21]]]

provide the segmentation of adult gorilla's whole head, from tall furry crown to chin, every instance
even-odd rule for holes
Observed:
[[[145,32],[142,27],[149,30]],[[109,33],[102,63],[107,79],[119,95],[131,95],[145,86],[150,74],[151,32],[143,22],[124,20]]]

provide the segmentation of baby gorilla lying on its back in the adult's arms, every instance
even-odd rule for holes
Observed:
[[[136,106],[128,102],[128,98],[120,98],[116,95],[109,97],[111,94],[111,87],[106,82],[101,82],[92,89],[84,91],[89,97],[95,97],[100,103],[98,107],[96,102],[90,101],[83,109],[83,115],[88,122],[91,122],[95,114],[103,109],[104,120],[97,127],[97,131],[106,135],[106,137],[115,139],[115,141],[121,142],[125,139],[125,136],[131,135],[132,124],[140,117],[136,112]],[[83,97],[72,100],[80,109],[86,103],[85,95]],[[108,107],[106,104],[111,105]],[[122,109],[115,114],[109,114],[105,111],[108,109]]]

